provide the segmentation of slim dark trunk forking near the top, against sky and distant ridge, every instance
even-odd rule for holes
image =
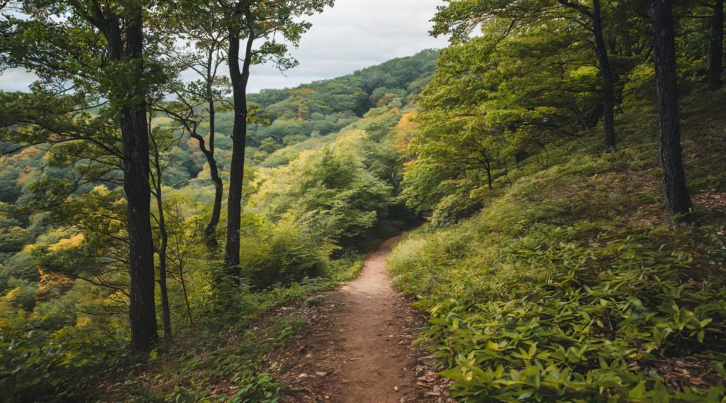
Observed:
[[[232,162],[229,166],[229,195],[227,196],[227,245],[224,248],[224,269],[230,277],[240,275],[240,225],[242,222],[242,179],[245,171],[245,142],[247,139],[247,83],[250,78],[250,62],[254,30],[250,11],[245,10],[248,22],[248,38],[245,60],[240,71],[240,33],[232,30],[229,35],[229,77],[234,98],[234,131],[232,132]]]

